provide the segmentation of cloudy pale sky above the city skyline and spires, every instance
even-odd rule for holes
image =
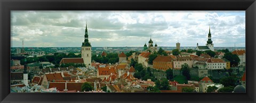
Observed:
[[[93,47],[245,47],[245,11],[12,11],[11,46],[80,47],[85,24]]]

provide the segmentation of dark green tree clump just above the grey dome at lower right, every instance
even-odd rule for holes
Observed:
[[[228,86],[236,86],[236,78],[233,76],[228,76],[220,79],[220,83],[224,85],[224,87]]]

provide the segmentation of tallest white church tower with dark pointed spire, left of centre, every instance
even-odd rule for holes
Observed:
[[[84,42],[82,43],[81,52],[82,52],[81,53],[82,58],[84,59],[84,64],[86,65],[86,67],[88,67],[92,63],[92,46],[88,40],[87,22],[86,22]]]

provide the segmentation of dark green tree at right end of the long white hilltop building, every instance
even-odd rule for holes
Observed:
[[[234,65],[234,66],[237,66],[238,63],[240,62],[240,59],[237,55],[235,54],[231,54],[230,52],[229,53],[226,53],[223,58],[226,58],[228,59],[228,61],[230,61],[230,65]]]

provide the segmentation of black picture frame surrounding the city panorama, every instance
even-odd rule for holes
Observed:
[[[255,102],[255,0],[0,0],[1,102]],[[242,10],[246,11],[246,93],[10,93],[12,10]]]

